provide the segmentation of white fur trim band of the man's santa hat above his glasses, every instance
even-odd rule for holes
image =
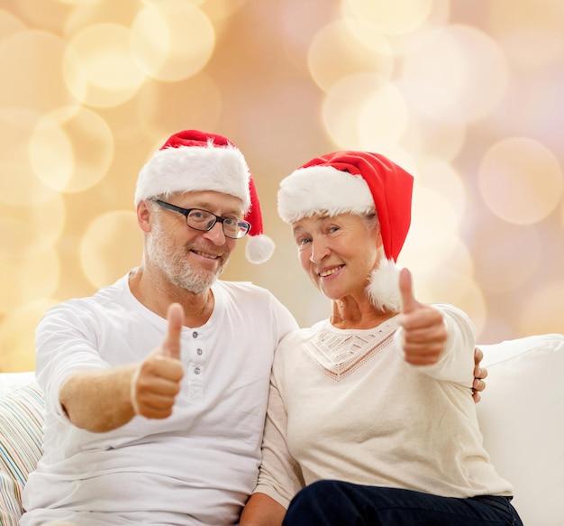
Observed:
[[[141,168],[135,204],[177,192],[213,190],[240,198],[250,207],[250,171],[234,146],[178,146],[155,152]]]

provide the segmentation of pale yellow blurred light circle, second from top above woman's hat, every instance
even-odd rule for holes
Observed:
[[[312,78],[324,91],[358,72],[390,78],[394,66],[386,38],[350,19],[323,26],[309,46],[307,61]]]

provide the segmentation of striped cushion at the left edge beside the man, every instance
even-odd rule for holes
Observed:
[[[23,485],[42,454],[43,409],[37,383],[19,387],[0,398],[0,524],[3,526],[17,526],[23,513]]]

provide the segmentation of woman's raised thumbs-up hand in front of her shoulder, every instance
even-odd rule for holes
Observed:
[[[402,269],[399,274],[399,289],[403,309],[398,322],[404,328],[405,361],[412,365],[435,364],[448,336],[442,314],[415,299],[412,275],[407,269]]]

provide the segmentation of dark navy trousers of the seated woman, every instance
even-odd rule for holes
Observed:
[[[505,497],[441,497],[322,480],[290,503],[283,526],[523,526]]]

